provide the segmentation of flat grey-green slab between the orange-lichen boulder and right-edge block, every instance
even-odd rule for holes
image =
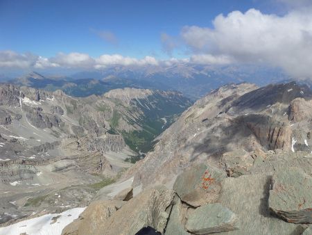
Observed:
[[[270,214],[268,196],[270,177],[242,175],[223,181],[218,202],[239,217],[239,230],[216,235],[301,235],[301,225],[285,222]]]

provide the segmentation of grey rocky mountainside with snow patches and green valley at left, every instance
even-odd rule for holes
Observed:
[[[1,85],[0,223],[86,206],[190,104],[177,92],[76,98]]]

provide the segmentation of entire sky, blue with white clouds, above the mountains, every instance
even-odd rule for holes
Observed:
[[[312,77],[310,0],[0,0],[0,73],[267,63]]]

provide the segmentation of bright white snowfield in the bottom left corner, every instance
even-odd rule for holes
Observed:
[[[62,229],[73,222],[84,208],[73,208],[62,213],[47,214],[37,218],[17,222],[8,227],[0,227],[0,235],[60,235]],[[53,219],[52,219],[53,218]]]

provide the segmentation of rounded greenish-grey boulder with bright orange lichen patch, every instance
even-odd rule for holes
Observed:
[[[224,172],[199,164],[178,175],[173,190],[183,202],[197,207],[216,202],[224,178]]]

